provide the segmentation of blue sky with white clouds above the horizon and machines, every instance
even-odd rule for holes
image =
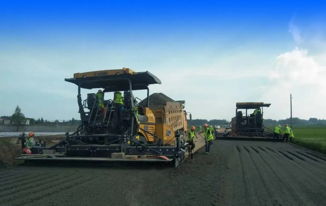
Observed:
[[[265,118],[326,118],[324,1],[0,1],[0,116],[79,118],[73,73],[128,67],[195,119],[238,101]],[[84,91],[84,97],[89,91]],[[145,92],[137,92],[139,98]],[[302,108],[307,108],[302,110]]]

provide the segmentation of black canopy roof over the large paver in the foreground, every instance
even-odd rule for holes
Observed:
[[[135,72],[133,74],[125,73],[85,78],[65,78],[65,81],[74,83],[81,88],[105,88],[105,92],[129,90],[128,80],[131,82],[132,90],[147,89],[149,84],[161,84],[161,81],[148,71]]]

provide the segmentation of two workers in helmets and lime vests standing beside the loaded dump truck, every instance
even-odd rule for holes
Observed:
[[[195,142],[194,142],[194,137],[198,139],[197,135],[195,134],[195,126],[191,127],[191,130],[188,132],[188,140],[187,142],[189,143],[188,151],[191,154],[191,158],[193,158],[194,155],[194,148],[195,148]],[[214,128],[213,126],[210,126],[208,124],[204,124],[204,131],[200,131],[199,135],[201,133],[204,133],[204,140],[205,140],[205,153],[210,154],[211,150],[211,145],[213,144],[214,140]]]

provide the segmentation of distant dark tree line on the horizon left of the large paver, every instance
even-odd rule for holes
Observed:
[[[25,115],[22,113],[22,110],[19,106],[16,106],[15,112],[12,116],[1,116],[0,118],[2,119],[9,119],[12,121],[12,124],[15,125],[22,125],[22,121],[29,120],[30,125],[56,125],[56,124],[61,124],[61,125],[80,125],[81,121],[76,120],[72,118],[71,120],[63,120],[60,122],[59,120],[55,121],[48,121],[44,120],[42,117],[38,119],[34,118],[26,118]]]

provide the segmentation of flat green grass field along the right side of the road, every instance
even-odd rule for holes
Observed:
[[[270,129],[274,129],[274,127],[267,126]],[[296,125],[292,130],[294,144],[326,154],[326,125]],[[196,131],[199,131],[199,126],[196,126]]]

